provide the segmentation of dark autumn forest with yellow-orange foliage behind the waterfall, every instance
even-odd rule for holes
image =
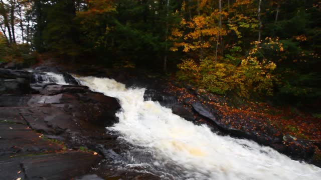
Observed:
[[[318,0],[0,0],[0,62],[141,68],[320,114]]]

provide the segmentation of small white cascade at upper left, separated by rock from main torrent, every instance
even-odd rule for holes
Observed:
[[[34,78],[38,82],[55,82],[58,84],[68,84],[62,74],[54,72],[35,73]]]

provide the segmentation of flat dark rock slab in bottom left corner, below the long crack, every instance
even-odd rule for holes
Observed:
[[[88,152],[49,153],[0,159],[1,179],[71,179],[86,174],[101,160]]]

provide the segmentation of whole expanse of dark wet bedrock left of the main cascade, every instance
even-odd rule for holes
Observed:
[[[24,78],[27,85],[0,89],[1,178],[159,179],[148,173],[110,170],[127,147],[105,128],[118,121],[115,113],[120,104],[64,76],[74,85],[30,83],[29,72],[0,69],[3,81]]]

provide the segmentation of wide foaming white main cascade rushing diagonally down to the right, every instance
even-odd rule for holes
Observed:
[[[92,90],[119,99],[119,123],[110,127],[135,148],[128,166],[164,179],[320,179],[321,168],[291,160],[257,143],[220,136],[157,102],[143,100],[143,88],[126,89],[113,79],[79,77]],[[136,155],[140,154],[140,155]],[[141,168],[140,168],[141,169]]]

